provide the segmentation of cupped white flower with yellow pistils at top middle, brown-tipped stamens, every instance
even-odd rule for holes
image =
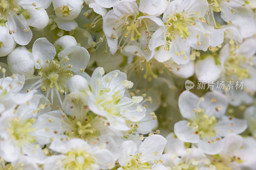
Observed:
[[[134,2],[128,0],[119,1],[108,11],[103,18],[103,31],[108,40],[111,54],[116,50],[125,50],[133,41],[139,41],[138,47],[133,47],[134,53],[141,51],[153,51],[154,48],[164,43],[161,40],[164,31],[164,23],[153,16],[140,16],[140,11]],[[139,50],[138,50],[138,49]],[[154,53],[153,53],[154,54]],[[146,58],[147,61],[153,57]],[[146,55],[147,56],[147,55]]]

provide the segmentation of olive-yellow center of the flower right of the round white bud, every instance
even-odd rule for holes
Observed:
[[[50,62],[46,60],[46,65],[39,70],[38,76],[41,76],[42,85],[40,88],[42,91],[46,92],[48,87],[53,88],[55,86],[60,93],[64,93],[66,84],[73,74],[70,70],[72,65],[67,66],[61,63],[62,61],[52,60]]]

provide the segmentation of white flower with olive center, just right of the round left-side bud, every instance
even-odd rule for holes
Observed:
[[[40,87],[43,92],[46,92],[47,99],[51,92],[52,103],[55,91],[60,104],[62,104],[60,94],[65,92],[68,80],[74,74],[83,75],[90,58],[85,48],[74,46],[75,41],[67,36],[64,38],[68,41],[67,45],[64,46],[61,40],[57,40],[56,48],[46,38],[39,38],[35,41],[32,55],[37,75],[28,77],[26,81],[27,89]],[[55,56],[56,51],[57,56]]]

